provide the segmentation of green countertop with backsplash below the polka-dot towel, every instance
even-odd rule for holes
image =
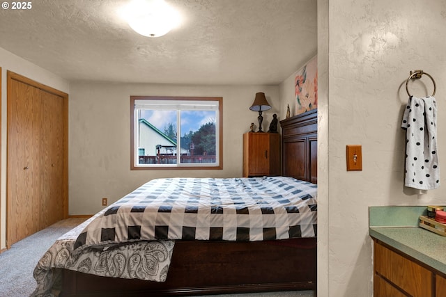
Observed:
[[[392,211],[392,208],[395,212]],[[425,214],[426,207],[403,208],[370,207],[370,236],[446,274],[446,236],[417,227],[418,217]],[[406,216],[406,210],[408,216]],[[385,214],[386,220],[379,219],[383,217],[383,214]],[[392,216],[389,217],[389,214]],[[399,220],[399,216],[393,216],[394,214],[404,214],[403,220]],[[390,224],[388,218],[392,217],[394,220]],[[380,222],[383,222],[383,225],[380,225]]]

